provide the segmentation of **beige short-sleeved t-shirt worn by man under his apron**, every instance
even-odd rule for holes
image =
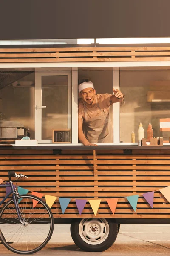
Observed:
[[[101,108],[102,111],[104,111],[107,114],[109,113],[109,107],[111,106],[110,104],[111,96],[112,94],[108,94],[108,93],[95,95],[95,99],[96,99],[96,102],[99,103],[99,107]],[[82,98],[79,99],[78,108],[79,108],[79,119],[81,118],[85,119],[85,111],[84,111],[84,104],[83,104]],[[97,104],[95,104],[94,107],[92,108],[91,107],[88,108],[88,105],[86,105],[86,111],[87,111],[88,118],[102,115],[101,111],[97,107]]]

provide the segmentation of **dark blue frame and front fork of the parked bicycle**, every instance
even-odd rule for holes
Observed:
[[[15,189],[14,189],[13,182],[12,182],[12,181],[9,181],[9,182],[7,182],[7,183],[4,184],[4,185],[0,185],[0,188],[6,188],[6,187],[10,187],[11,190],[10,190],[10,192],[8,192],[8,194],[3,198],[3,200],[0,201],[0,205],[3,204],[3,202],[6,201],[6,199],[12,194],[12,197],[13,197],[13,200],[14,200],[14,205],[15,205],[15,208],[16,208],[16,211],[17,211],[18,218],[19,218],[20,222],[21,222],[22,224],[24,224],[24,220],[23,220],[23,218],[22,218],[22,215],[20,214],[20,208],[19,208],[19,205],[18,205],[18,201],[17,201],[16,198],[15,198],[16,191],[15,191]]]

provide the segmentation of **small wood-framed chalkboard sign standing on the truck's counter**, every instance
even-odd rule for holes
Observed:
[[[53,130],[53,143],[71,143],[71,129]]]

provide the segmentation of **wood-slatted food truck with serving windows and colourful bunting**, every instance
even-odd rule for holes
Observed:
[[[111,143],[89,147],[78,139],[84,81],[96,93],[125,94],[125,104],[109,110]],[[163,144],[141,145],[140,123],[144,138],[151,123]],[[29,177],[18,186],[56,197],[55,223],[71,223],[83,250],[106,250],[122,223],[170,224],[162,190],[170,186],[170,47],[1,47],[0,178],[8,171]],[[59,198],[69,199],[64,212]],[[86,200],[81,214],[78,200]]]

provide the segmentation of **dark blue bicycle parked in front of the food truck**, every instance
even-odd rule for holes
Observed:
[[[12,194],[12,198],[0,210],[0,241],[14,253],[36,253],[51,239],[54,230],[53,214],[41,198],[19,195],[11,177],[18,178],[16,182],[20,178],[28,178],[23,174],[8,172],[9,182],[0,185],[0,188],[11,188],[0,205]],[[33,200],[38,201],[35,207]]]

